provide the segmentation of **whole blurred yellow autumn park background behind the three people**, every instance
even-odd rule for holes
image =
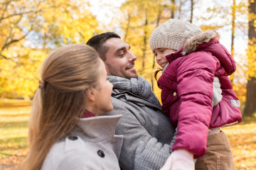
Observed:
[[[169,18],[214,29],[235,58],[230,76],[244,122],[228,132],[234,169],[256,169],[256,2],[254,0],[0,0],[0,169],[15,169],[28,147],[31,99],[43,60],[57,47],[114,31],[137,56],[137,73],[160,90],[151,32]]]

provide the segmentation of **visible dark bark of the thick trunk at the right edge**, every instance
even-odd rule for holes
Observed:
[[[248,9],[249,9],[249,15],[255,16],[256,1],[249,0]],[[255,17],[249,17],[248,45],[252,45],[250,40],[254,40],[256,38],[254,22],[255,22]],[[249,65],[248,67],[250,67],[250,63],[248,63],[248,65]],[[247,94],[246,94],[244,115],[252,116],[253,113],[256,113],[256,77],[249,77],[247,81],[246,89],[247,89]]]

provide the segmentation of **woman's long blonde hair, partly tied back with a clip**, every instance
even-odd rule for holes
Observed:
[[[97,86],[100,57],[88,45],[68,45],[43,62],[44,86],[36,91],[29,120],[30,150],[19,169],[41,169],[50,147],[78,123],[87,89]]]

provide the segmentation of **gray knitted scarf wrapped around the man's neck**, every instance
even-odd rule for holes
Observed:
[[[146,98],[146,100],[161,107],[158,98],[153,91],[151,91],[151,84],[143,77],[125,79],[122,77],[108,76],[107,79],[113,84],[113,89],[122,89],[130,91],[132,94]]]

